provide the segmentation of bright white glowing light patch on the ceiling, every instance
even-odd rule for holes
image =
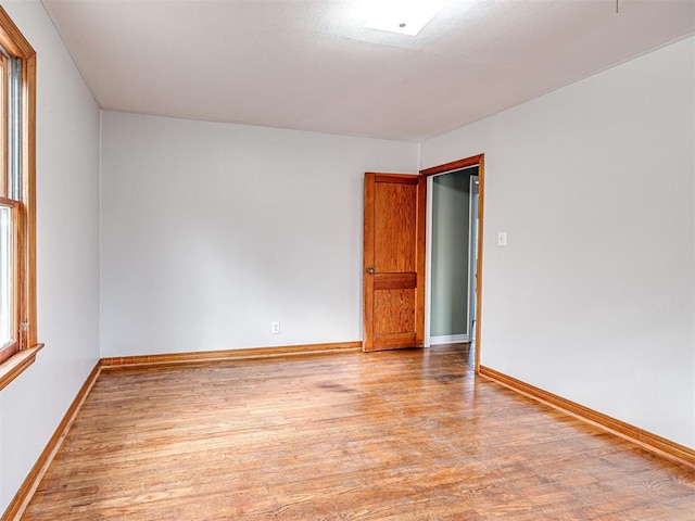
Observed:
[[[369,3],[365,27],[416,36],[440,10],[432,0],[379,0]]]

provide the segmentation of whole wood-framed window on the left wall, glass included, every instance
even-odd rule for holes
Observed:
[[[42,346],[36,327],[36,53],[0,8],[0,389]]]

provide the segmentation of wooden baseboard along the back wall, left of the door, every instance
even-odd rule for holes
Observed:
[[[324,353],[362,351],[362,342],[338,342],[332,344],[285,345],[279,347],[252,347],[244,350],[201,351],[172,353],[166,355],[137,355],[102,358],[103,369],[141,366],[169,366],[179,364],[205,364],[210,361],[242,360]]]

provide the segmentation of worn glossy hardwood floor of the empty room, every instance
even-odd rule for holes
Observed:
[[[693,520],[695,471],[462,346],[102,373],[28,520]]]

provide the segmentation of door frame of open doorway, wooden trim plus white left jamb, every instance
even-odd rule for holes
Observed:
[[[482,250],[483,250],[483,215],[484,215],[484,194],[485,194],[485,154],[472,155],[470,157],[466,157],[463,160],[453,161],[451,163],[445,163],[443,165],[433,166],[431,168],[426,168],[420,170],[420,176],[425,176],[429,178],[431,176],[435,176],[439,174],[448,174],[456,170],[460,170],[464,168],[468,168],[471,166],[478,165],[478,252],[477,252],[477,292],[476,292],[476,374],[480,373],[480,348],[481,348],[481,323],[482,323]],[[429,181],[429,180],[428,180]],[[431,205],[428,205],[427,213],[427,226],[429,227],[431,224],[432,214],[431,214]],[[429,228],[428,228],[429,229]],[[430,233],[427,234],[427,249],[431,250],[431,238]],[[431,254],[431,252],[430,252]],[[427,277],[426,277],[426,294],[430,295],[431,293],[431,280],[430,280],[430,266],[427,266]],[[427,336],[425,339],[426,345],[429,346],[429,325],[430,325],[430,313],[431,313],[431,304],[430,302],[425,303],[425,320],[426,320],[426,329]]]

